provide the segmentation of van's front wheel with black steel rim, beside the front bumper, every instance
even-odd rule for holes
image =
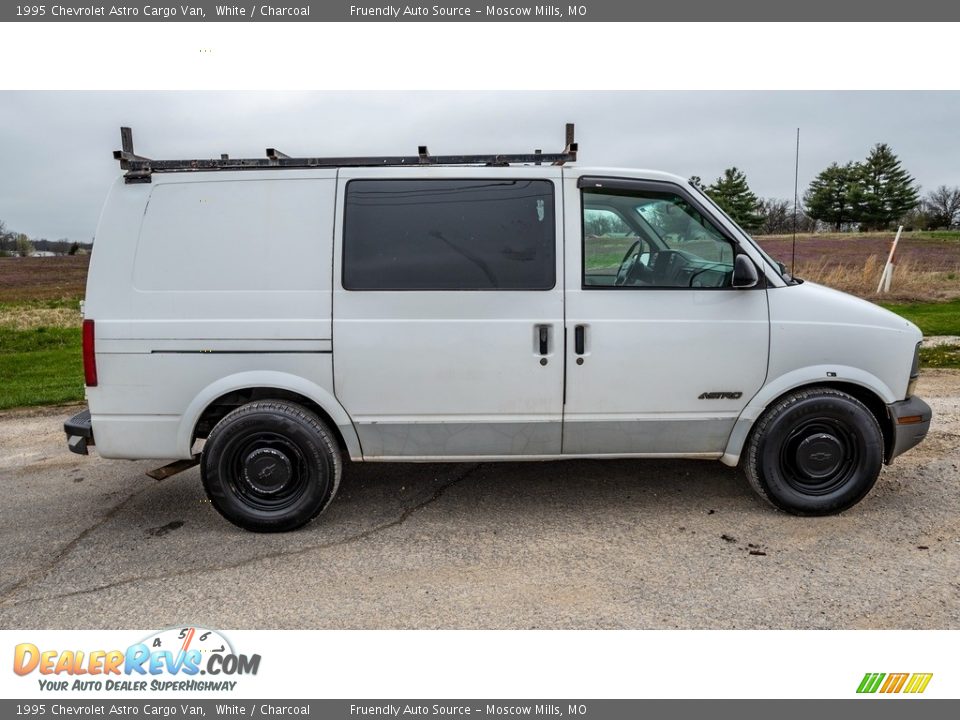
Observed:
[[[757,421],[744,465],[751,487],[775,508],[832,515],[860,502],[877,481],[883,432],[852,395],[798,390]]]

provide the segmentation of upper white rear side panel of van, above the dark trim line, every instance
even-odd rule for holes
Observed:
[[[98,325],[110,322],[103,337],[148,341],[137,351],[158,339],[329,340],[335,173],[327,174],[116,188],[141,217],[98,231],[88,308]]]

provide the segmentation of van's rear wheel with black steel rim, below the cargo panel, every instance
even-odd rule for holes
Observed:
[[[303,527],[340,484],[340,452],[314,413],[280,400],[242,405],[210,431],[200,475],[210,502],[254,532]]]

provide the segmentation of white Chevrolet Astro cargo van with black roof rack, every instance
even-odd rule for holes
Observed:
[[[790,277],[674,175],[562,153],[151,160],[128,129],[70,448],[199,462],[290,530],[341,458],[710,458],[835,513],[919,443],[920,331]]]

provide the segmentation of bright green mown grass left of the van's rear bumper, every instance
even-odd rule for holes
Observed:
[[[0,327],[0,409],[83,400],[79,328]]]

